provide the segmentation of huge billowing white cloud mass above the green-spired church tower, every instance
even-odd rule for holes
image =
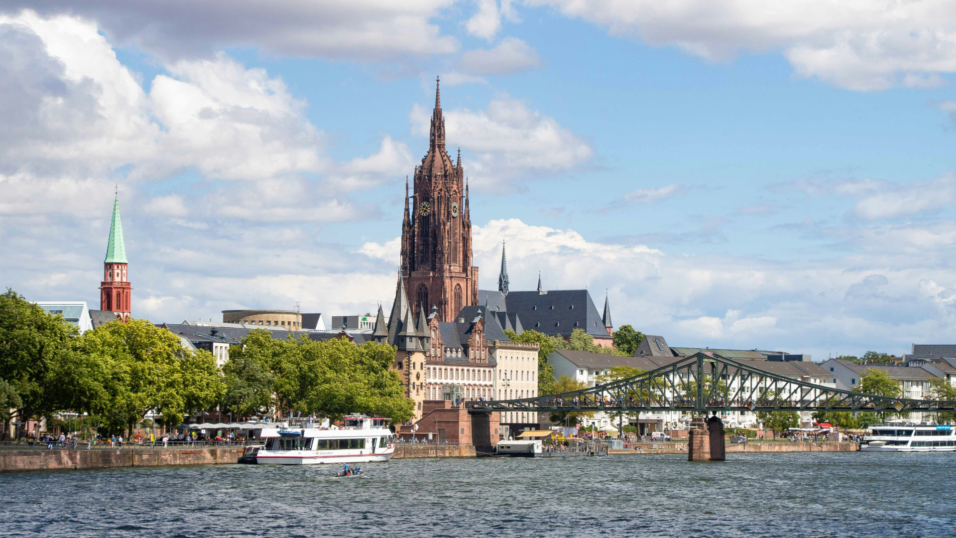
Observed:
[[[205,181],[251,181],[144,200],[145,211],[199,229],[185,217],[352,220],[376,210],[355,207],[348,192],[412,167],[387,135],[373,155],[333,162],[305,102],[225,54],[169,63],[146,92],[89,21],[0,15],[0,36],[0,213],[98,214],[114,183],[130,187],[125,201],[141,182],[195,170]]]

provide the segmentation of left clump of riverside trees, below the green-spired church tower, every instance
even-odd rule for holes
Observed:
[[[88,422],[130,433],[147,412],[178,425],[212,406],[223,384],[211,353],[187,351],[144,320],[111,323],[80,336],[75,325],[7,290],[0,295],[0,399],[5,435],[20,422],[73,410]],[[15,412],[11,414],[10,409]]]

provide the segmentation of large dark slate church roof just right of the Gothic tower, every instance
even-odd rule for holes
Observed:
[[[489,312],[517,314],[525,330],[570,336],[572,330],[582,328],[595,338],[611,338],[586,289],[511,291],[507,296],[497,290],[478,290],[478,303],[488,304]]]

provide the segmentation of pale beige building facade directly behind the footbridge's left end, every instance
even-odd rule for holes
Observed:
[[[494,399],[513,400],[537,395],[537,344],[494,340],[489,342],[489,352],[497,364],[494,372]],[[528,424],[537,422],[532,412],[507,412],[501,414],[502,424]]]

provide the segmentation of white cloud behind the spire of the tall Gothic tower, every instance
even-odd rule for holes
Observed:
[[[594,149],[571,129],[521,101],[499,99],[482,111],[443,112],[445,138],[449,145],[463,148],[466,173],[479,190],[500,190],[511,181],[563,173],[594,155]],[[422,106],[412,107],[413,132],[427,134],[430,118]]]

